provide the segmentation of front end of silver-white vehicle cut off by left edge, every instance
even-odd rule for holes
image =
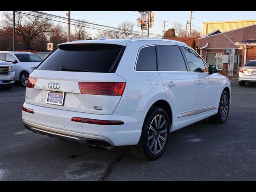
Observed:
[[[13,64],[0,60],[0,87],[10,89],[15,83]]]

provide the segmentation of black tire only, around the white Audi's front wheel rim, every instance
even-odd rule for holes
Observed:
[[[224,97],[226,96],[228,103],[227,103],[227,114],[226,117],[223,118],[222,116],[222,100],[224,99]],[[225,108],[225,107],[224,107]],[[223,109],[224,110],[224,109]],[[224,113],[224,112],[223,112]],[[210,116],[209,119],[212,123],[215,124],[223,124],[224,122],[226,122],[226,120],[228,119],[228,113],[229,113],[229,95],[228,92],[223,91],[220,97],[220,103],[219,103],[219,108],[218,108],[218,113]]]

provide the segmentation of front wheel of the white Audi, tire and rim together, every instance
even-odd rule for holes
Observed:
[[[228,92],[223,91],[220,97],[220,104],[218,108],[218,113],[210,116],[211,122],[216,124],[222,124],[226,122],[229,113],[229,95]]]

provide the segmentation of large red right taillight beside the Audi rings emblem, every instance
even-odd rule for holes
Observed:
[[[124,92],[125,82],[79,82],[82,94],[92,95],[117,95]]]

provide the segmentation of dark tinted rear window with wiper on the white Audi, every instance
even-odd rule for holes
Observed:
[[[88,72],[115,72],[124,48],[115,44],[61,45],[37,69],[61,71],[63,66]]]

